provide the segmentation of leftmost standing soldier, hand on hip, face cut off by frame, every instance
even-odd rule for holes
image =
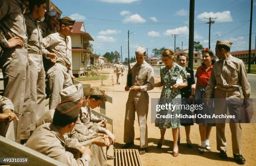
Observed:
[[[4,77],[4,97],[13,102],[19,121],[9,124],[6,138],[20,142],[30,136],[30,81],[27,33],[24,19],[26,7],[21,0],[0,1],[0,45],[3,55],[0,68]]]

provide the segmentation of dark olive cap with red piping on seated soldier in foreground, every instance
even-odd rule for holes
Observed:
[[[80,105],[78,102],[73,102],[71,100],[67,100],[59,103],[54,112],[53,121],[56,119],[61,119],[62,121],[72,121],[76,119],[79,115]]]

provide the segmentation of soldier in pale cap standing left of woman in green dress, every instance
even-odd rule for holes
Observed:
[[[147,91],[154,89],[154,70],[144,60],[146,50],[144,46],[136,49],[137,62],[131,63],[132,87],[125,87],[125,91],[129,91],[128,100],[126,102],[125,123],[124,123],[124,148],[133,145],[134,140],[134,120],[135,111],[137,112],[138,122],[141,132],[140,154],[145,154],[148,147],[148,102],[149,97]]]

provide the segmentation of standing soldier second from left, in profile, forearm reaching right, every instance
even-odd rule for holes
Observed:
[[[28,33],[28,56],[30,68],[30,90],[31,90],[31,131],[42,120],[45,109],[45,73],[42,53],[47,50],[42,46],[43,37],[38,26],[38,17],[44,17],[46,12],[46,0],[31,0],[29,3],[29,14],[25,15]],[[52,61],[56,58],[54,53],[46,54]]]

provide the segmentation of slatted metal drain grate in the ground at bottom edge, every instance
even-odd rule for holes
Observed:
[[[114,166],[143,166],[138,149],[114,149]]]

